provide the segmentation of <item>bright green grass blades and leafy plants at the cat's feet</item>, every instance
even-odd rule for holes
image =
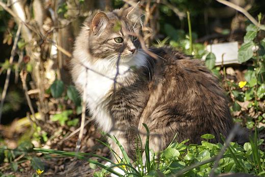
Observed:
[[[172,141],[167,149],[154,154],[154,152],[149,149],[149,130],[147,127],[146,129],[147,139],[144,145],[145,162],[142,160],[142,148],[137,148],[137,160],[132,163],[119,141],[114,136],[110,135],[111,139],[120,147],[123,157],[117,157],[117,153],[113,152],[108,143],[102,143],[110,148],[113,155],[117,158],[117,161],[120,162],[118,164],[115,164],[108,158],[91,153],[64,152],[46,149],[34,150],[44,154],[57,154],[87,160],[92,164],[91,166],[94,164],[102,168],[101,171],[95,172],[94,176],[106,176],[108,173],[123,176],[113,170],[115,167],[122,169],[125,176],[208,176],[217,160],[217,156],[220,155],[224,147],[222,143],[214,144],[208,142],[208,139],[214,136],[206,134],[202,136],[205,140],[201,141],[201,144],[186,145],[189,139],[182,142]],[[258,139],[257,129],[250,138],[250,142],[245,143],[243,146],[235,142],[230,142],[228,148],[223,151],[224,154],[222,158],[219,162],[216,162],[218,166],[214,172],[216,174],[244,172],[264,176],[264,152],[259,149],[259,145],[262,142],[263,140]],[[157,158],[154,158],[154,155]],[[105,166],[103,163],[92,160],[91,157],[110,162],[112,165]]]

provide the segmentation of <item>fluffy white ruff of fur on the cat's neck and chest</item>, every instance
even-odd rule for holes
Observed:
[[[137,53],[128,62],[121,62],[119,69],[114,65],[111,67],[110,60],[97,60],[90,62],[88,56],[80,57],[81,62],[80,74],[77,77],[76,84],[82,86],[86,90],[86,103],[88,108],[93,113],[101,129],[105,132],[110,132],[113,127],[112,118],[107,110],[108,94],[114,87],[114,80],[119,83],[130,79],[133,70],[131,68],[140,68],[146,65],[147,58],[143,53]],[[118,72],[118,75],[117,75]],[[118,84],[118,83],[115,83]]]

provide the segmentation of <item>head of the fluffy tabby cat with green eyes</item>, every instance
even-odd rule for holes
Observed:
[[[87,40],[87,50],[94,60],[127,62],[141,47],[137,36],[141,32],[141,16],[136,8],[98,12],[85,21],[86,31],[82,40]]]

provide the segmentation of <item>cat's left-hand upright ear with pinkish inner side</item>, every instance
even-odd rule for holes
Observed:
[[[98,31],[103,30],[107,26],[108,21],[109,18],[104,12],[98,12],[92,20],[91,28],[93,32],[97,33]]]

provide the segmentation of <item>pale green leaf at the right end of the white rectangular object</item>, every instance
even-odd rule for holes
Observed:
[[[252,48],[254,47],[253,42],[248,42],[242,44],[241,48],[239,49],[239,62],[243,63],[248,61],[253,56]]]

